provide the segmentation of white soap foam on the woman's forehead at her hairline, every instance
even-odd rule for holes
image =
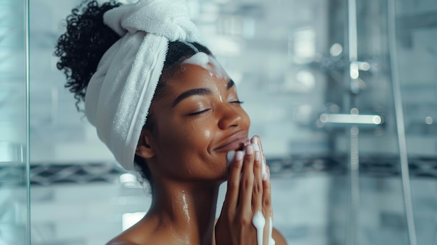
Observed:
[[[198,52],[192,57],[184,60],[182,64],[192,64],[195,66],[200,66],[209,72],[209,75],[217,77],[218,79],[229,78],[228,73],[221,66],[218,61],[204,52]]]

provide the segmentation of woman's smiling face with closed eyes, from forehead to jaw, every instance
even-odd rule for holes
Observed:
[[[220,68],[217,68],[220,69]],[[156,133],[152,175],[177,180],[224,181],[226,154],[241,149],[250,119],[232,80],[194,64],[182,64],[151,105]],[[158,176],[154,176],[158,177]]]

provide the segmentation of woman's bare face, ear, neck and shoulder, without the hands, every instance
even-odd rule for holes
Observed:
[[[226,154],[242,148],[250,120],[228,77],[184,64],[165,81],[165,93],[149,111],[156,129],[142,132],[136,152],[154,179],[152,205],[109,244],[214,244]]]

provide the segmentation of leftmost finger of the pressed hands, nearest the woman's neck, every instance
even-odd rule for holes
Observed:
[[[226,189],[225,201],[223,207],[235,209],[237,207],[239,182],[242,172],[243,151],[237,151],[229,166],[228,188]]]

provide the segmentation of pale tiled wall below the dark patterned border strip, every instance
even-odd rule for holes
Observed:
[[[356,244],[408,245],[399,177],[360,179]],[[223,186],[222,186],[223,187]],[[57,185],[32,189],[32,244],[104,244],[121,232],[124,213],[147,211],[150,195],[118,184]],[[418,243],[437,242],[437,181],[412,180]],[[218,209],[223,202],[221,188]],[[344,244],[348,177],[307,175],[272,179],[274,226],[292,245]]]

